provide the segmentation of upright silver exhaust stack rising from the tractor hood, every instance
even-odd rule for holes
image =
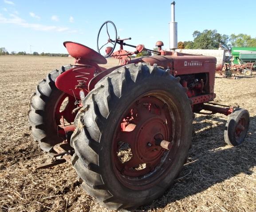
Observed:
[[[171,22],[169,23],[170,50],[178,48],[177,22],[175,22],[175,1],[171,3]]]

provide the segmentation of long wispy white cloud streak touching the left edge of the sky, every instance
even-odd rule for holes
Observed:
[[[37,23],[27,23],[24,19],[21,19],[17,15],[10,14],[11,18],[5,18],[0,14],[0,23],[11,23],[18,25],[20,27],[30,28],[38,31],[56,31],[56,32],[71,32],[76,33],[77,30],[70,30],[68,27],[59,27],[59,26],[47,26]]]

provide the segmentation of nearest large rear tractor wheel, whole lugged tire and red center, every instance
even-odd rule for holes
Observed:
[[[156,64],[129,64],[100,80],[83,106],[71,145],[87,193],[107,208],[129,209],[172,185],[192,136],[190,102],[179,78]],[[169,141],[169,150],[159,140]]]

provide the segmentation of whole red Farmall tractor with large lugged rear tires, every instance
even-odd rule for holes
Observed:
[[[110,25],[107,21],[99,30],[106,27],[110,45],[104,56],[64,42],[75,63],[38,84],[28,119],[40,148],[54,158],[35,169],[67,161],[83,189],[105,207],[132,209],[149,204],[173,184],[191,147],[194,113],[227,115],[224,140],[232,146],[244,141],[249,114],[211,103],[215,57],[165,51],[160,41],[158,51],[144,45],[129,45],[135,50],[126,51],[126,39],[117,37],[115,27],[110,38]],[[120,49],[114,51],[117,44]],[[142,50],[157,55],[130,58]],[[102,68],[105,57],[117,58],[120,65]]]

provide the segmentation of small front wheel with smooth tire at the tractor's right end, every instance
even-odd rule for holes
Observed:
[[[237,108],[229,115],[225,126],[224,140],[228,145],[237,146],[244,141],[250,122],[248,110]]]

